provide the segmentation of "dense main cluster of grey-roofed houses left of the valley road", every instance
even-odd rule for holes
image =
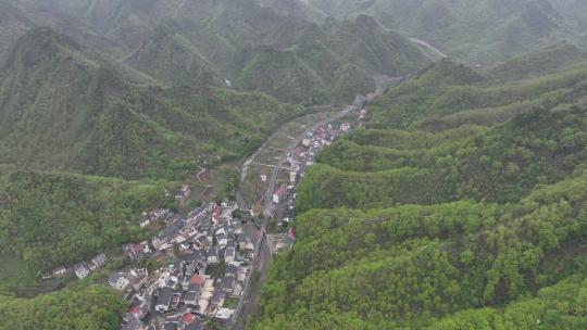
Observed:
[[[123,246],[130,259],[161,266],[151,274],[132,268],[109,277],[130,304],[121,329],[193,330],[233,316],[234,306],[224,304],[242,297],[262,237],[255,225],[233,217],[237,207],[209,203],[186,217],[165,213],[165,227],[150,242]]]

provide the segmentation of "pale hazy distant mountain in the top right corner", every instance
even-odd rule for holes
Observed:
[[[571,22],[578,1],[564,0],[310,0],[337,17],[370,14],[385,26],[436,46],[472,65],[488,65],[540,47],[572,40],[584,43],[584,27]],[[564,3],[567,2],[567,3]]]

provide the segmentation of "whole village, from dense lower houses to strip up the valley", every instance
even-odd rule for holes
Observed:
[[[347,114],[352,110],[357,109],[347,110]],[[364,115],[364,111],[359,112],[355,126],[361,126]],[[257,220],[251,210],[228,200],[201,204],[185,216],[163,208],[145,213],[140,227],[162,229],[150,240],[123,245],[122,252],[133,266],[111,272],[107,280],[129,306],[121,329],[200,330],[210,321],[223,327],[234,325],[248,302],[251,279],[259,277],[260,263],[268,262],[261,261],[266,256],[258,255],[262,242],[267,243],[273,255],[289,251],[296,240],[290,224],[296,185],[316,154],[352,127],[347,122],[336,128],[330,123],[316,125],[284,151],[280,169],[289,173],[289,180],[282,178],[268,187],[271,216],[264,221]],[[183,204],[190,194],[189,186],[184,183],[175,198]],[[274,225],[271,230],[266,228],[270,218]],[[43,279],[60,278],[70,271],[84,279],[108,262],[107,255],[100,253],[72,268],[58,267],[45,274]]]

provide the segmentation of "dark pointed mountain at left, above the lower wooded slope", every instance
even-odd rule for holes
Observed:
[[[152,87],[48,28],[22,37],[8,59],[0,71],[0,141],[3,163],[18,167],[176,177],[248,153],[276,118],[300,111],[200,80]]]

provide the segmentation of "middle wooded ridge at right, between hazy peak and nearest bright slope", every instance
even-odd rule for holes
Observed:
[[[310,168],[298,188],[297,205],[304,212],[458,199],[514,202],[536,185],[561,180],[587,161],[586,116],[579,107],[536,110],[486,132],[455,135],[451,142],[420,150],[342,140],[320,157],[326,164]]]

